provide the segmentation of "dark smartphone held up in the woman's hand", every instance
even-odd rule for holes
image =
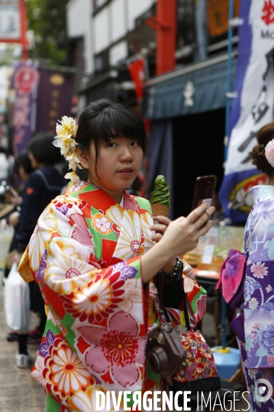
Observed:
[[[217,176],[215,174],[197,177],[191,210],[201,205],[201,203],[208,203],[208,207],[212,205],[216,182]]]

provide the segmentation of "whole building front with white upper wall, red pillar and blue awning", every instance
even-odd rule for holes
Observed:
[[[239,7],[240,0],[234,0],[234,16]],[[190,211],[197,176],[216,174],[219,184],[223,179],[228,11],[229,0],[70,0],[66,8],[79,113],[102,97],[138,110],[129,63],[145,61],[142,117],[151,124],[149,185],[157,174],[166,176],[172,217]],[[168,35],[171,29],[175,36]],[[233,34],[232,82],[236,27]],[[166,72],[159,69],[165,56],[173,60]]]

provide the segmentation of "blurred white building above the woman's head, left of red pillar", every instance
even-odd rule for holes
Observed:
[[[136,105],[127,65],[145,54],[155,65],[155,32],[145,19],[155,0],[71,0],[66,6],[69,64],[77,67],[75,92],[83,102],[114,98]]]

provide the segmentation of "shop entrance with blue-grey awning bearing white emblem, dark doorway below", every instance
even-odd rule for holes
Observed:
[[[232,60],[232,78],[236,58]],[[145,83],[142,116],[151,119],[150,171],[169,177],[173,217],[186,216],[197,176],[223,179],[227,54]],[[187,194],[187,196],[186,196]]]

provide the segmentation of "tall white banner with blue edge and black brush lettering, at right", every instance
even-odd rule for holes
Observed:
[[[240,5],[239,57],[232,105],[225,178],[219,194],[232,222],[247,218],[250,188],[265,181],[251,163],[260,128],[274,116],[274,0],[244,0]]]

